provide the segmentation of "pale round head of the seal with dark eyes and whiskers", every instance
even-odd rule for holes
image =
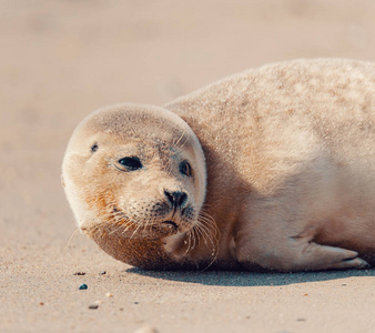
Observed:
[[[199,140],[180,117],[120,104],[79,124],[62,179],[78,225],[89,236],[162,239],[194,228],[206,171]]]

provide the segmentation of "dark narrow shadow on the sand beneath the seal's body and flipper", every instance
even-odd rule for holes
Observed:
[[[375,270],[346,270],[300,273],[239,272],[239,271],[148,271],[138,268],[128,273],[185,283],[225,286],[271,286],[307,282],[323,282],[353,276],[375,276]]]

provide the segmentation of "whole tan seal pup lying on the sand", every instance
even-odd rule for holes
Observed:
[[[135,266],[365,268],[375,64],[281,62],[163,108],[103,108],[75,129],[62,178],[81,231]]]

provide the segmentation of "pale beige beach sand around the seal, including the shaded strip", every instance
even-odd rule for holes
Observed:
[[[0,0],[0,332],[373,332],[374,270],[114,261],[74,234],[60,168],[97,108],[160,105],[272,61],[374,60],[374,12],[369,0]]]

